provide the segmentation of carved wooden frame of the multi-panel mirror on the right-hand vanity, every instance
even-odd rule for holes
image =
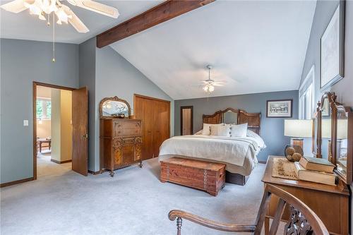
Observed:
[[[316,156],[322,157],[322,117],[323,117],[323,109],[324,100],[328,99],[328,108],[331,110],[331,136],[330,136],[330,162],[337,166],[337,112],[346,112],[347,113],[347,169],[346,175],[342,174],[342,172],[335,169],[335,174],[338,175],[341,181],[350,185],[353,181],[353,112],[349,107],[344,107],[339,102],[336,102],[335,93],[325,92],[321,97],[321,101],[318,102],[317,109],[317,121],[318,121],[318,129],[317,129],[317,150]],[[315,118],[314,118],[315,119]],[[315,124],[313,124],[315,125]],[[313,135],[313,141],[315,141]],[[314,148],[314,147],[313,147]]]

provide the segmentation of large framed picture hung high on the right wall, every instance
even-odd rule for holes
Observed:
[[[320,41],[320,88],[326,90],[344,76],[345,1],[340,0]]]

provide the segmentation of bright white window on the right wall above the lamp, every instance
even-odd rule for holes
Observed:
[[[314,113],[314,69],[312,66],[299,88],[299,119],[312,119]]]

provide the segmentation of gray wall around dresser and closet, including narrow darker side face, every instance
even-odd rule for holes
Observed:
[[[100,122],[99,104],[104,97],[117,96],[127,100],[133,109],[133,94],[147,95],[171,101],[171,116],[174,116],[174,102],[160,88],[146,78],[112,47],[98,49],[95,38],[80,44],[80,86],[88,85],[90,109],[90,149],[89,166],[91,171],[100,169]],[[85,74],[83,74],[85,73]],[[133,110],[132,110],[133,114]],[[171,133],[174,133],[172,118]],[[94,136],[92,138],[92,136]]]

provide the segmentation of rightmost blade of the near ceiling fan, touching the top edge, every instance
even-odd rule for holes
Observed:
[[[104,4],[100,4],[97,1],[92,1],[92,0],[68,0],[70,4],[73,6],[78,6],[81,8],[85,8],[90,11],[95,11],[97,13],[100,13],[105,16],[110,16],[112,18],[118,18],[119,16],[119,11],[118,9],[112,7],[112,6],[107,6]]]

